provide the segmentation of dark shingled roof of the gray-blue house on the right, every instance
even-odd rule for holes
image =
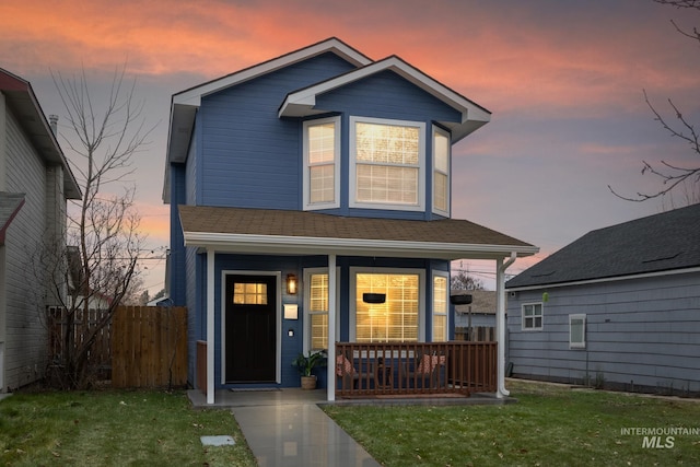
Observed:
[[[700,203],[588,232],[508,289],[700,268]]]

